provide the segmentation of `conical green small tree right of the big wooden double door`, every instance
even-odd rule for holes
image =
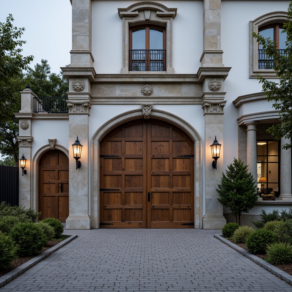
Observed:
[[[236,223],[238,217],[240,225],[241,213],[248,213],[258,200],[256,180],[241,159],[234,158],[234,162],[227,168],[226,175],[222,173],[221,184],[216,189],[219,193],[218,201],[224,207],[230,208]]]

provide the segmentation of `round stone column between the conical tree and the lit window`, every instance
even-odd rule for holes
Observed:
[[[257,144],[256,144],[256,125],[258,122],[250,121],[245,123],[247,126],[247,144],[246,144],[246,165],[248,171],[253,175],[256,180],[258,177],[257,172]]]

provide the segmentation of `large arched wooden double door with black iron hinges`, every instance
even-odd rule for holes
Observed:
[[[100,143],[100,227],[194,228],[194,142],[136,120]]]

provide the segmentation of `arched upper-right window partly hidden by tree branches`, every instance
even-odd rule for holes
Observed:
[[[279,50],[281,54],[284,54],[287,33],[282,31],[283,23],[265,25],[259,28],[259,33],[264,38],[274,40],[277,43],[277,50]],[[263,45],[258,46],[258,69],[273,69],[273,59],[267,57]]]

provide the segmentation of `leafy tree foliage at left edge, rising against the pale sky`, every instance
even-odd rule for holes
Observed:
[[[15,110],[18,92],[25,84],[19,76],[33,60],[33,56],[21,55],[21,47],[26,41],[20,38],[25,28],[14,27],[13,21],[9,14],[6,22],[0,22],[0,121],[7,121]]]

